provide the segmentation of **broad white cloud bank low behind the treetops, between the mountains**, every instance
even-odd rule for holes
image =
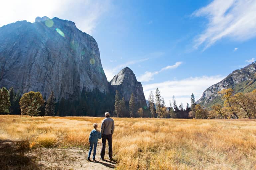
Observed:
[[[165,81],[160,83],[146,84],[143,85],[144,95],[147,99],[150,92],[155,93],[156,88],[159,88],[161,96],[165,98],[166,103],[169,100],[172,101],[172,96],[175,96],[178,105],[183,103],[185,106],[187,103],[190,104],[190,95],[194,93],[195,99],[198,100],[204,90],[215,83],[220,82],[225,77],[216,76],[202,76],[202,77],[190,77],[182,80]]]

